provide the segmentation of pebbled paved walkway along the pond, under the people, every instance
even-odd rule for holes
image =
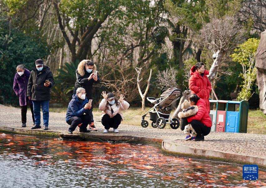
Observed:
[[[42,119],[42,118],[41,118]],[[82,136],[101,139],[132,139],[162,142],[162,149],[174,153],[185,153],[194,156],[206,156],[211,158],[237,161],[239,163],[253,163],[266,168],[266,135],[245,133],[221,133],[211,132],[205,136],[205,141],[184,141],[185,135],[180,129],[159,129],[148,126],[120,125],[119,133],[102,133],[104,127],[100,123],[100,117],[95,116],[97,132],[83,133]],[[18,130],[29,131],[32,127],[31,113],[27,113],[27,127],[21,127],[20,108],[0,105],[0,129],[7,127],[20,128]],[[50,112],[49,130],[58,131],[62,135],[68,135],[69,125],[65,122],[65,113]],[[122,122],[123,123],[123,122]],[[41,131],[38,129],[36,131]],[[19,132],[19,131],[17,131]],[[79,134],[78,131],[73,133]],[[141,139],[142,138],[142,139]]]

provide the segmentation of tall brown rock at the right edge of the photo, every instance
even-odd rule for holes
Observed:
[[[259,107],[266,115],[266,30],[260,34],[255,67],[258,69]]]

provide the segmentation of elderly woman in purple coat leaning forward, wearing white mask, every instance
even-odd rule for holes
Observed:
[[[34,113],[33,113],[33,104],[32,101],[27,97],[27,86],[30,72],[28,69],[25,69],[24,65],[17,66],[17,73],[14,77],[13,90],[16,95],[19,97],[19,106],[21,106],[21,121],[22,127],[26,127],[27,121],[27,104],[30,104],[30,110],[33,119],[33,125],[35,124]]]

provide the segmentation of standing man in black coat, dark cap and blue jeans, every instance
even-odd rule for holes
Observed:
[[[48,130],[49,125],[49,100],[50,88],[54,86],[53,73],[50,68],[43,64],[42,59],[35,61],[34,68],[28,80],[27,96],[33,102],[33,111],[35,117],[35,126],[31,129],[41,128],[41,106],[43,110],[43,125],[44,130]]]

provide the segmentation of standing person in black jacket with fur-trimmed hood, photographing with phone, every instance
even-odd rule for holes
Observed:
[[[96,65],[93,61],[84,59],[82,60],[78,68],[76,70],[76,83],[75,83],[75,89],[74,94],[76,94],[77,88],[83,87],[86,90],[86,97],[88,100],[92,99],[92,86],[93,84],[100,83],[100,77],[98,74],[95,74]],[[92,108],[93,108],[93,101],[92,101],[92,107],[91,107],[91,125],[89,126],[89,130],[91,131],[97,131],[97,129],[94,126],[94,120],[92,115]]]

